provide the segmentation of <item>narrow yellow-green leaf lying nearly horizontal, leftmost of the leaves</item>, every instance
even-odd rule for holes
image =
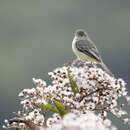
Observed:
[[[42,109],[47,109],[47,110],[50,110],[52,112],[56,112],[56,113],[59,113],[59,111],[57,110],[56,107],[53,107],[51,104],[35,104],[35,106],[37,107],[40,107]]]

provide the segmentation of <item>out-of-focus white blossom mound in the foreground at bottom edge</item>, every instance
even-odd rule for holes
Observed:
[[[52,119],[51,119],[52,120]],[[46,130],[117,130],[112,126],[111,121],[102,120],[91,111],[76,115],[69,113],[56,124],[49,126]]]

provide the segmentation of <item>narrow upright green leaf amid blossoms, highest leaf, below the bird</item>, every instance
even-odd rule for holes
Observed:
[[[78,88],[76,82],[73,80],[73,77],[70,74],[70,70],[67,70],[67,71],[68,71],[68,77],[70,80],[70,85],[71,85],[72,91],[73,91],[74,95],[76,95],[77,93],[79,93],[79,88]]]

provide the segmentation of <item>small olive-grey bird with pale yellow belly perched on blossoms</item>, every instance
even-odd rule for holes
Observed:
[[[87,32],[83,29],[78,29],[75,31],[74,35],[72,50],[78,59],[81,61],[90,61],[91,63],[100,64],[110,76],[114,77],[111,71],[103,63],[101,55],[93,41],[88,37]]]

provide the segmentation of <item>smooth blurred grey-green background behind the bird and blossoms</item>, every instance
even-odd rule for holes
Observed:
[[[79,28],[116,77],[130,84],[129,0],[0,1],[0,126],[18,110],[18,93],[34,87],[33,77],[49,84],[48,72],[76,58],[71,42]],[[130,129],[119,120],[113,124]]]

